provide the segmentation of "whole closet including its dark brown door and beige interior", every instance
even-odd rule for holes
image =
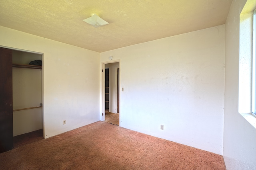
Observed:
[[[0,48],[0,152],[13,148],[14,136],[43,128],[42,66],[34,60],[42,55]]]

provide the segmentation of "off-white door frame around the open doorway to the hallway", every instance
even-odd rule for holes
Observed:
[[[101,99],[102,99],[102,101],[101,101],[101,108],[102,108],[102,113],[100,113],[100,120],[101,121],[105,121],[105,66],[106,66],[106,64],[110,64],[110,63],[119,63],[119,92],[120,92],[120,84],[121,84],[121,71],[120,71],[120,69],[121,69],[121,61],[120,61],[120,59],[119,60],[113,60],[113,61],[105,61],[105,62],[102,62],[101,64],[102,64],[102,73],[101,73],[101,75],[102,75],[102,81],[101,81],[101,91],[102,91],[102,93],[101,93]],[[120,99],[121,99],[121,95],[120,95],[120,93],[119,93],[119,126],[121,127],[121,121],[120,121],[120,115],[121,115],[121,109],[120,109]]]

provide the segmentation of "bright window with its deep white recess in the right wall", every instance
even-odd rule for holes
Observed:
[[[240,14],[238,112],[256,128],[255,7],[255,0],[247,0]]]

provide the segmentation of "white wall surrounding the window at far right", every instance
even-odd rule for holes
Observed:
[[[226,20],[226,71],[223,157],[227,170],[256,169],[256,129],[240,113],[238,113],[238,101],[243,100],[239,100],[238,95],[240,73],[239,15],[245,4],[246,0],[234,0],[230,7],[228,18]],[[240,109],[240,111],[241,110],[244,111],[246,109]]]

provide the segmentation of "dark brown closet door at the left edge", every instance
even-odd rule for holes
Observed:
[[[0,153],[12,147],[12,50],[0,48]]]

